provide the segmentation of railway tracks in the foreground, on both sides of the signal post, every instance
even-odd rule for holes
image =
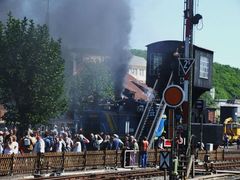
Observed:
[[[207,163],[208,170],[206,171],[206,166],[197,165],[195,167],[196,172],[202,172],[202,174],[208,173],[221,173],[226,172],[234,174],[237,173],[240,176],[240,161],[216,161],[212,163]],[[225,170],[225,171],[224,171]],[[229,175],[229,176],[230,176]],[[73,172],[65,172],[61,174],[52,173],[47,174],[43,177],[28,177],[27,179],[32,180],[42,180],[42,179],[53,179],[53,180],[122,180],[122,179],[141,179],[141,178],[153,178],[153,177],[162,177],[164,176],[164,172],[160,171],[156,168],[146,168],[146,169],[134,169],[134,170],[126,170],[126,169],[107,169],[107,170],[97,170],[97,171],[73,171]]]

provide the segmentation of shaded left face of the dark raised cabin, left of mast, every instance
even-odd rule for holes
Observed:
[[[174,71],[174,84],[179,84],[178,59],[173,56],[174,52],[181,47],[181,41],[160,41],[147,45],[147,77],[146,83],[153,87],[158,78],[156,90],[161,95],[166,88],[168,79]]]

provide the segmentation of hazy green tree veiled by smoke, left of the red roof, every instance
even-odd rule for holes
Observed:
[[[81,62],[69,83],[69,104],[80,112],[94,108],[102,99],[113,99],[113,80],[107,62]]]

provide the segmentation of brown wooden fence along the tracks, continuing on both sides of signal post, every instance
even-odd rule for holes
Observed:
[[[160,164],[161,151],[148,151],[148,166]],[[204,161],[205,155],[210,161],[240,160],[240,150],[198,151],[196,158]],[[0,176],[139,166],[140,152],[134,150],[0,155]]]

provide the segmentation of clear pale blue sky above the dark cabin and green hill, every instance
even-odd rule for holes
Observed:
[[[130,46],[183,39],[184,0],[131,0]],[[203,21],[194,27],[193,42],[214,51],[214,62],[240,68],[240,0],[195,0]]]

